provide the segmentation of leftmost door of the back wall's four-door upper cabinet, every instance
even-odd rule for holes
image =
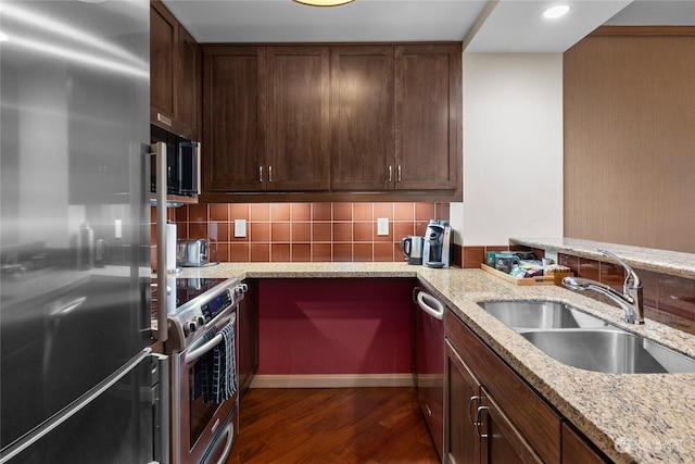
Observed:
[[[203,190],[264,190],[266,50],[205,47]]]

